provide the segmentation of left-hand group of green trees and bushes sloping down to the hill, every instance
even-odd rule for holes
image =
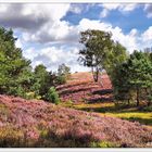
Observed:
[[[48,72],[43,64],[34,69],[30,61],[16,48],[13,30],[0,28],[0,93],[20,96],[26,99],[45,99],[59,102],[55,86],[66,83],[71,68],[65,64],[58,72]],[[51,93],[51,96],[48,96]],[[53,96],[52,96],[53,94]]]

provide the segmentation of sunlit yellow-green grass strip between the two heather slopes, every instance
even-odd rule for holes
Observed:
[[[130,122],[139,122],[142,125],[152,126],[152,113],[139,110],[136,106],[115,106],[113,102],[103,103],[81,103],[73,105],[74,109],[83,110],[87,112],[97,112],[100,114],[105,114],[107,116],[114,116]]]

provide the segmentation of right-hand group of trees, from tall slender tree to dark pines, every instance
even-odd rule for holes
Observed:
[[[124,46],[112,40],[112,34],[102,30],[80,33],[78,61],[91,67],[97,83],[99,73],[106,71],[112,81],[115,101],[152,103],[152,52],[135,50],[129,54]]]

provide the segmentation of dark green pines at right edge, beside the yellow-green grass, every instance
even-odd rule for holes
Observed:
[[[135,100],[137,106],[140,99],[151,103],[152,61],[149,56],[135,51],[125,63],[117,65],[112,80],[117,100]]]

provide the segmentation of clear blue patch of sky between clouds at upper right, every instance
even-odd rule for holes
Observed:
[[[86,8],[87,4],[80,4]],[[119,12],[117,9],[112,10],[106,17],[101,17],[100,13],[104,8],[94,4],[90,9],[84,9],[80,14],[75,12],[67,12],[67,14],[62,18],[67,21],[73,25],[77,25],[79,21],[84,17],[90,20],[100,20],[102,22],[112,23],[113,26],[118,26],[123,29],[125,34],[129,33],[132,28],[137,28],[140,31],[145,30],[152,25],[152,17],[147,17],[144,12],[144,4],[139,4],[135,10],[128,11],[126,13]]]

